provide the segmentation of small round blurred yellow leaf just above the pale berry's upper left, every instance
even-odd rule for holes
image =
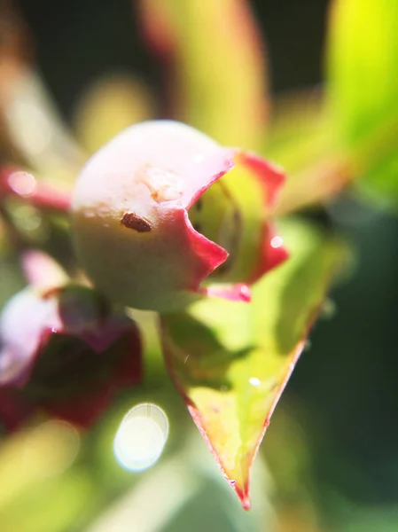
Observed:
[[[99,78],[84,90],[74,109],[77,137],[89,153],[131,124],[150,120],[155,104],[149,88],[128,74]]]

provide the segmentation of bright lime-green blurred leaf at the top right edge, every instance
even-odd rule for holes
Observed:
[[[398,198],[398,4],[335,0],[327,55],[335,135],[368,191]]]

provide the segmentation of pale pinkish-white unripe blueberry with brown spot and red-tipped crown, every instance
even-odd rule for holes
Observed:
[[[253,185],[261,193],[255,238],[245,237],[245,209],[240,212],[233,199],[239,191],[227,190],[228,182],[211,186],[236,163],[255,175],[247,177],[245,188]],[[98,289],[126,306],[164,312],[206,294],[246,301],[246,283],[286,257],[281,246],[277,256],[265,257],[264,251],[273,235],[262,207],[282,181],[266,161],[223,148],[182,123],[134,125],[99,150],[78,177],[73,199],[78,257]],[[200,202],[213,207],[196,225]],[[216,275],[229,254],[238,264],[245,239],[254,241],[250,260],[236,269],[230,263],[228,272]]]

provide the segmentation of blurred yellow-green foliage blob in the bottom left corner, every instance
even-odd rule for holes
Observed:
[[[1,441],[2,532],[52,532],[59,529],[55,525],[56,520],[67,520],[70,523],[82,511],[82,507],[87,504],[86,496],[89,495],[88,479],[76,471],[65,473],[76,458],[79,444],[79,434],[74,427],[61,421],[49,421]],[[60,477],[61,473],[65,473],[65,476]],[[47,498],[50,494],[51,509]],[[65,511],[59,507],[60,500],[64,497]],[[20,508],[24,508],[24,512],[20,512]],[[41,520],[43,527],[33,527],[32,520],[36,519]],[[29,523],[31,528],[28,528]],[[65,524],[62,529],[64,526]]]

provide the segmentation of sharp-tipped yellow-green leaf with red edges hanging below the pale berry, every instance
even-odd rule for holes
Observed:
[[[161,317],[168,371],[246,509],[255,453],[346,256],[308,225],[280,232],[291,259],[261,278],[251,303],[207,299]]]

